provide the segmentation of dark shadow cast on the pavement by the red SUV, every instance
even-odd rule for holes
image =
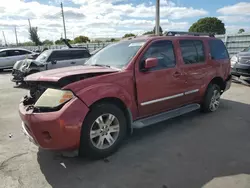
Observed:
[[[214,177],[250,174],[250,105],[221,100],[210,114],[193,112],[137,130],[108,160],[63,158],[39,150],[54,188],[198,188]]]

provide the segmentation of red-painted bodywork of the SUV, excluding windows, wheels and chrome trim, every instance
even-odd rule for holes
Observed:
[[[180,39],[197,39],[204,42],[205,63],[186,65],[180,50]],[[136,40],[136,39],[135,39]],[[150,44],[157,40],[171,40],[174,46],[176,66],[157,71],[142,72],[139,70],[140,60]],[[198,102],[201,103],[208,84],[215,77],[224,81],[229,76],[230,62],[211,60],[208,41],[209,37],[149,37],[146,44],[137,52],[130,63],[121,71],[105,67],[77,66],[45,71],[30,75],[26,81],[57,82],[63,77],[87,73],[107,73],[101,76],[83,79],[63,89],[69,89],[79,98],[69,101],[57,112],[32,113],[19,107],[21,119],[31,130],[35,141],[47,149],[77,149],[80,141],[81,126],[88,108],[95,102],[105,98],[120,99],[130,110],[133,120],[157,114],[179,106]],[[147,67],[155,66],[157,61],[150,58]],[[155,99],[173,96],[198,89],[199,92],[181,97],[141,105]],[[51,136],[44,131],[47,131]],[[48,141],[49,140],[49,141]]]

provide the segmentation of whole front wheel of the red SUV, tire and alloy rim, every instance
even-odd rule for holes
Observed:
[[[100,117],[102,117],[103,121],[101,121]],[[107,121],[109,119],[111,121]],[[99,126],[98,122],[104,124],[99,123]],[[107,122],[111,122],[110,126],[108,126],[109,123]],[[99,127],[102,127],[102,129]],[[91,159],[108,157],[119,148],[126,136],[126,130],[125,115],[116,105],[102,103],[93,106],[82,125],[79,155]],[[110,139],[110,136],[112,136],[113,140]]]

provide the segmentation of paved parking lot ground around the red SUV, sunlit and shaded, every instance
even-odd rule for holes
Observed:
[[[10,79],[10,72],[0,73],[0,187],[198,188],[216,177],[250,174],[248,86],[233,84],[215,113],[136,130],[108,159],[89,161],[28,141],[18,116],[27,90]]]

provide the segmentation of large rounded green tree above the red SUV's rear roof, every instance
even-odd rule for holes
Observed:
[[[225,24],[216,17],[201,18],[195,22],[189,32],[225,34]]]

